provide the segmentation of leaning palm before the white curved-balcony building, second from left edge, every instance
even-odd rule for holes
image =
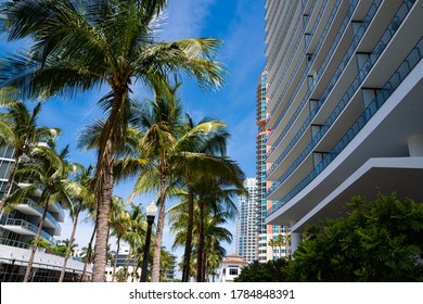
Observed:
[[[64,187],[64,180],[67,177],[68,169],[68,166],[64,162],[66,155],[67,147],[60,154],[48,147],[34,148],[28,154],[30,159],[23,161],[22,166],[16,170],[17,180],[29,179],[31,185],[25,188],[20,188],[13,192],[8,198],[12,204],[21,202],[25,198],[30,198],[37,189],[43,189],[39,201],[39,204],[43,207],[43,212],[31,248],[31,254],[24,276],[24,282],[27,282],[29,279],[49,204],[68,199]]]

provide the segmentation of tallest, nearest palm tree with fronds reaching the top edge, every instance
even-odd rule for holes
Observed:
[[[210,59],[217,39],[156,42],[166,0],[22,0],[1,5],[9,40],[29,37],[25,55],[10,55],[0,66],[0,88],[14,86],[27,98],[75,94],[107,86],[101,100],[107,118],[101,135],[95,170],[98,205],[93,280],[104,280],[107,218],[113,189],[113,159],[125,142],[130,93],[179,69],[203,88],[218,88],[223,69]]]

